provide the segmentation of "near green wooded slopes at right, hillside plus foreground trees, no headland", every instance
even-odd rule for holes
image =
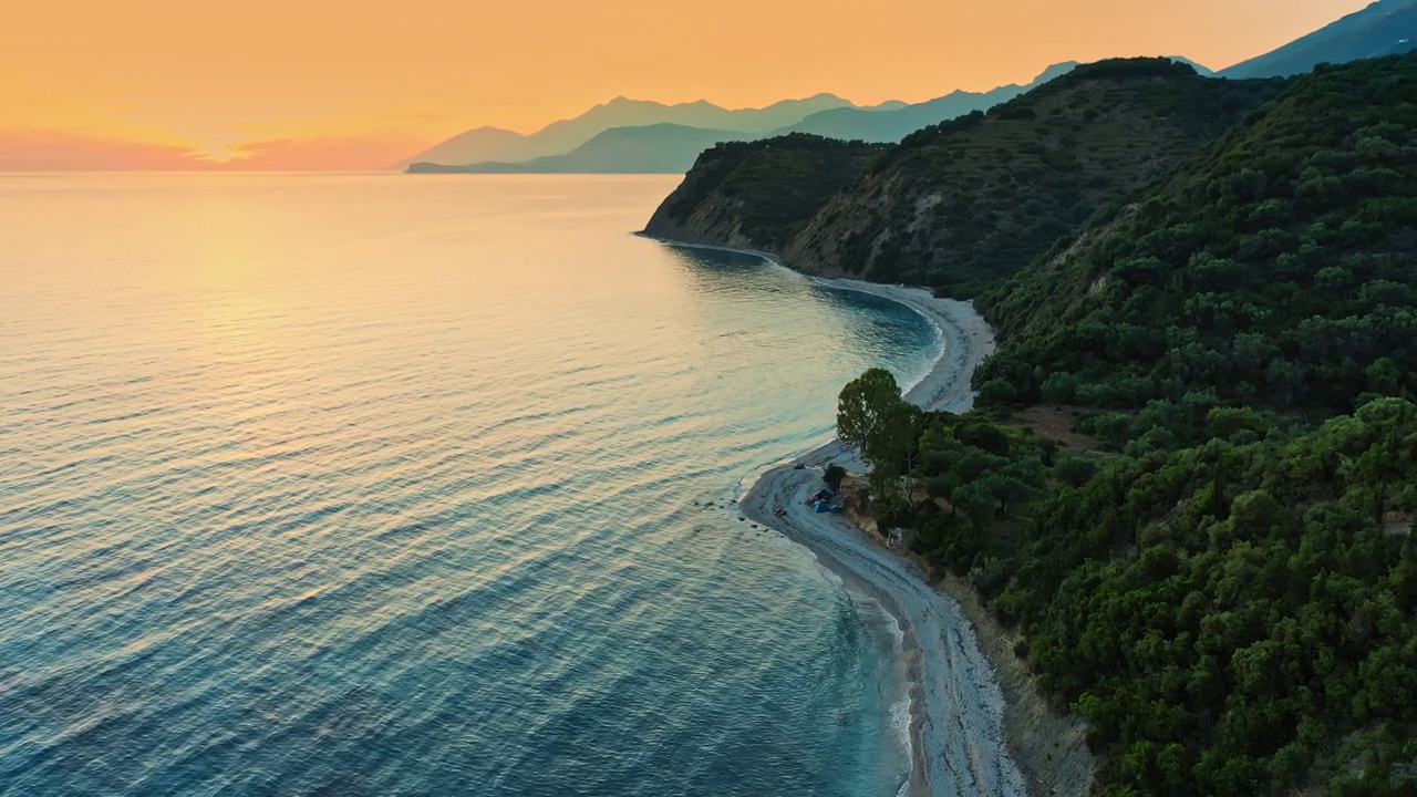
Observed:
[[[869,372],[839,424],[1100,791],[1417,793],[1417,55],[1297,81],[981,306],[981,410]]]

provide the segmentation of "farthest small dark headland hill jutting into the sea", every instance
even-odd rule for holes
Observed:
[[[781,251],[826,200],[888,145],[788,133],[704,150],[645,231],[665,238]]]

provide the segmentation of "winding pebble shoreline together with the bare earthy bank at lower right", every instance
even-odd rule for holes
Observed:
[[[762,251],[662,243],[751,254],[781,265]],[[812,279],[898,302],[925,318],[939,332],[938,350],[905,398],[951,413],[973,406],[969,374],[993,353],[995,339],[971,303],[901,285]],[[866,469],[833,438],[761,474],[738,503],[744,516],[802,545],[853,591],[879,601],[900,627],[911,757],[903,793],[1087,794],[1093,762],[1085,728],[1049,709],[1026,664],[1013,654],[1013,635],[985,610],[972,587],[956,577],[935,581],[927,566],[887,550],[845,516],[808,508],[806,496],[820,488],[829,462],[854,472]],[[785,515],[777,515],[779,509]]]

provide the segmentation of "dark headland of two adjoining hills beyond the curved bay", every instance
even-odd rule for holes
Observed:
[[[700,156],[646,233],[769,251],[825,277],[976,286],[1193,157],[1284,85],[1102,61],[900,145],[726,145]]]

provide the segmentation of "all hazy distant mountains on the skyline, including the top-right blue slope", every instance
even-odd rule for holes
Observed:
[[[1325,61],[1339,64],[1413,48],[1417,48],[1417,0],[1380,0],[1272,52],[1236,64],[1219,77],[1288,77]],[[1216,75],[1195,61],[1170,60],[1189,64],[1203,77]],[[531,135],[499,128],[466,130],[395,167],[414,173],[682,173],[701,150],[727,140],[812,133],[894,143],[921,128],[1007,102],[1076,65],[1054,64],[1027,85],[955,91],[917,104],[860,106],[819,94],[730,111],[706,101],[665,105],[622,96]]]

